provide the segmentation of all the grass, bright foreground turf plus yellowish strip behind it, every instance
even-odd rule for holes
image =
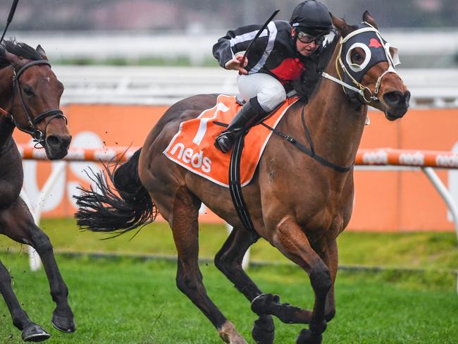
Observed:
[[[11,271],[14,289],[34,321],[51,331],[48,343],[222,343],[199,310],[175,287],[175,246],[165,223],[155,223],[110,240],[80,232],[73,219],[47,219],[42,228],[56,252],[70,289],[78,331],[59,333],[49,320],[54,304],[44,271],[32,273],[21,246],[0,237],[1,260]],[[212,259],[227,232],[221,225],[202,225],[200,256]],[[341,265],[377,266],[341,270],[335,286],[337,316],[323,343],[456,343],[458,248],[454,233],[342,233]],[[82,255],[81,255],[82,252]],[[89,257],[90,252],[155,254],[170,260]],[[278,293],[282,302],[312,307],[309,278],[268,242],[251,250],[254,261],[280,263],[252,266],[249,275],[261,290]],[[285,264],[283,264],[285,263]],[[380,271],[379,267],[383,270]],[[421,269],[422,271],[406,271]],[[226,317],[253,343],[255,315],[249,304],[211,262],[202,264],[207,291]],[[304,326],[276,320],[276,343],[295,343]],[[22,343],[8,309],[0,302],[0,343]]]

